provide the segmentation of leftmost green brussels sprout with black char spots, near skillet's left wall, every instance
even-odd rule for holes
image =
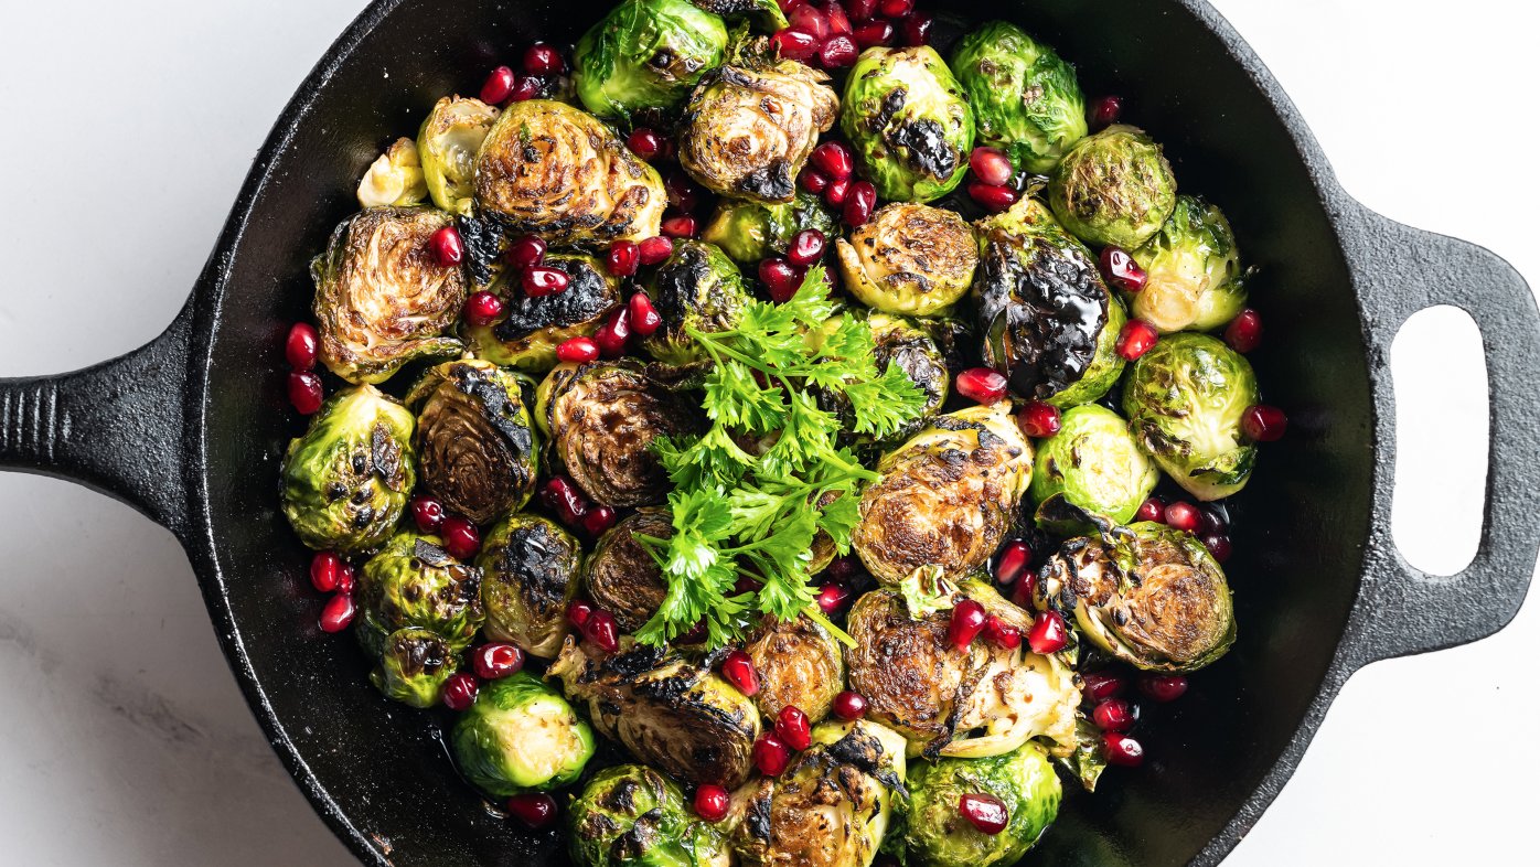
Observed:
[[[417,484],[411,413],[373,385],[333,394],[290,442],[283,516],[305,545],[357,554],[396,528]]]

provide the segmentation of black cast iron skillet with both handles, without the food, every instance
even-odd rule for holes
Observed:
[[[370,864],[564,861],[456,778],[445,721],[382,699],[346,636],[316,627],[306,553],[277,514],[296,434],[273,368],[306,314],[306,259],[356,208],[387,137],[533,38],[570,42],[611,0],[380,0],[300,86],[163,336],[60,377],[0,380],[0,465],[126,500],[186,547],[231,668],[274,750]],[[967,14],[973,5],[930,0]],[[1070,796],[1029,861],[1218,862],[1298,764],[1358,667],[1485,638],[1512,619],[1540,545],[1540,316],[1497,256],[1369,213],[1332,177],[1287,97],[1201,0],[992,3],[1058,46],[1089,92],[1121,92],[1186,189],[1224,206],[1267,317],[1255,354],[1291,436],[1235,505],[1241,631],[1143,738],[1153,759]],[[1491,470],[1463,573],[1408,565],[1389,536],[1395,456],[1388,356],[1406,317],[1451,303],[1485,334]]]

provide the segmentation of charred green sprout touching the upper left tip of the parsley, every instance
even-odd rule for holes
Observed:
[[[675,242],[673,256],[647,280],[664,323],[642,348],[670,365],[705,360],[705,353],[685,326],[696,331],[727,331],[738,325],[748,303],[748,290],[738,265],[716,245],[701,240]]]

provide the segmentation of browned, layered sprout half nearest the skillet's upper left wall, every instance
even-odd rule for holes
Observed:
[[[453,356],[444,337],[465,305],[465,273],[433,254],[451,219],[433,208],[371,208],[337,226],[310,265],[320,360],[356,385],[385,382],[407,362]]]

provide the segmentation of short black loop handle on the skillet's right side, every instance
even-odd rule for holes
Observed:
[[[1352,202],[1343,245],[1366,317],[1380,447],[1394,456],[1391,342],[1414,313],[1465,310],[1481,330],[1491,450],[1481,544],[1461,573],[1431,576],[1391,541],[1394,462],[1375,479],[1375,525],[1354,610],[1355,665],[1441,650],[1508,625],[1540,550],[1540,311],[1508,262],[1474,243],[1404,226]]]

